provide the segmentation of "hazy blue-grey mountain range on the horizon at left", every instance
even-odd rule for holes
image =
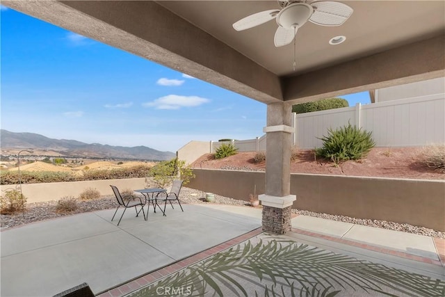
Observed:
[[[161,152],[143,145],[121,147],[99,143],[88,144],[66,139],[52,139],[34,133],[15,133],[4,129],[0,129],[0,145],[2,149],[53,150],[64,156],[83,158],[170,160],[176,156],[173,152]]]

